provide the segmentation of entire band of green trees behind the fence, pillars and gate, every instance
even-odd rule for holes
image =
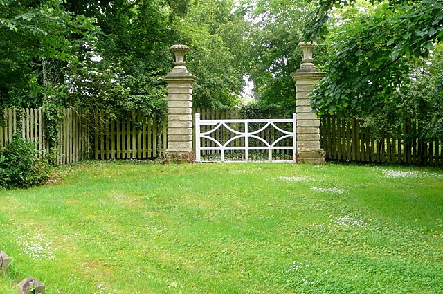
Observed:
[[[250,109],[290,117],[297,44],[316,39],[315,63],[327,73],[312,95],[319,113],[379,126],[426,119],[435,137],[442,21],[443,0],[1,0],[0,107],[161,117],[169,47],[188,44],[195,107],[237,105],[249,81]]]

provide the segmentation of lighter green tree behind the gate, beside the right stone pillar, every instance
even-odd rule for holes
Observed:
[[[249,77],[253,80],[257,103],[271,107],[280,116],[296,111],[296,92],[291,72],[300,68],[302,53],[297,45],[314,6],[306,1],[246,1],[253,29],[248,34],[252,58]],[[322,49],[316,50],[322,63]]]

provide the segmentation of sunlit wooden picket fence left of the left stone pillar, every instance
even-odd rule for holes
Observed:
[[[1,113],[0,148],[21,130],[22,138],[33,140],[41,154],[50,151],[44,131],[43,108],[3,109]],[[73,108],[62,109],[62,117],[54,147],[55,163],[60,165],[93,158],[152,159],[163,156],[166,148],[165,119],[162,122],[143,119],[138,111],[118,120],[106,119],[98,112],[92,118]]]

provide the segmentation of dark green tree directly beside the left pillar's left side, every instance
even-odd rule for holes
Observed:
[[[67,0],[64,5],[74,15],[97,19],[103,33],[80,48],[81,62],[68,68],[70,103],[100,107],[109,116],[133,109],[163,116],[161,77],[170,71],[169,47],[179,39],[174,24],[186,13],[188,1]]]

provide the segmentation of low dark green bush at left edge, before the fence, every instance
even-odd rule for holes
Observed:
[[[37,155],[35,143],[15,134],[5,148],[0,149],[0,187],[31,187],[46,182],[50,168],[46,158]]]

